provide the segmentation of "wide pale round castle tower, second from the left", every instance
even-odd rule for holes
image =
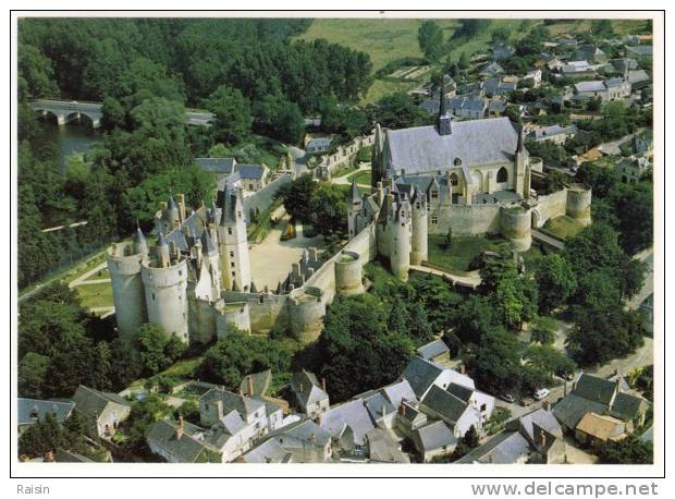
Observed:
[[[148,321],[187,343],[187,260],[172,248],[160,232],[156,256],[142,265],[140,276]]]

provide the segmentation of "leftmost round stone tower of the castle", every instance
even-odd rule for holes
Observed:
[[[106,252],[118,333],[130,343],[134,342],[138,328],[148,321],[140,277],[140,265],[147,258],[147,243],[140,228],[133,242],[115,243]]]

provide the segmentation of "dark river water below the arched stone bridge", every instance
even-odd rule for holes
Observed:
[[[101,135],[86,124],[69,123],[59,126],[53,122],[39,121],[39,134],[33,141],[34,148],[54,145],[61,161],[61,171],[65,173],[65,158],[73,153],[84,154],[95,144],[101,142]]]

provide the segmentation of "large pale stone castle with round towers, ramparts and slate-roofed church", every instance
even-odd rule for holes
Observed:
[[[443,93],[441,93],[443,95]],[[118,330],[133,341],[145,322],[185,342],[207,343],[234,326],[282,327],[316,339],[335,295],[365,291],[363,266],[382,257],[406,280],[428,259],[429,234],[502,234],[516,252],[532,229],[567,215],[590,222],[590,190],[542,196],[531,188],[531,158],[506,118],[454,121],[441,104],[435,125],[375,132],[372,192],[349,194],[348,242],[326,261],[305,249],[275,290],[258,290],[250,272],[242,190],[224,183],[214,204],[189,210],[170,195],[155,217],[157,243],[137,230],[107,253]]]

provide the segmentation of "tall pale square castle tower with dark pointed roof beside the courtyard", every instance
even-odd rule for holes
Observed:
[[[225,186],[222,195],[222,212],[218,227],[220,271],[225,290],[236,289],[248,292],[250,289],[248,236],[244,219],[244,204],[241,191],[237,191]]]

